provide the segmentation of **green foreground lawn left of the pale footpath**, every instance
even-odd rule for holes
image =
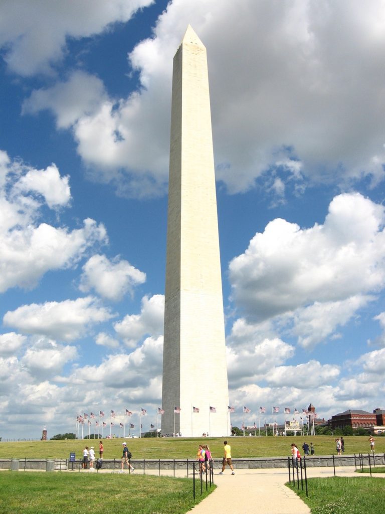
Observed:
[[[194,500],[192,481],[188,479],[97,473],[0,473],[0,514],[182,514],[206,496],[205,491],[202,496],[199,491]]]

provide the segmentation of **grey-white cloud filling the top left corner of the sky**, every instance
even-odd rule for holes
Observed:
[[[29,76],[51,72],[61,60],[67,38],[80,39],[127,22],[152,0],[85,0],[63,4],[50,0],[6,0],[0,5],[0,48],[10,70]]]

